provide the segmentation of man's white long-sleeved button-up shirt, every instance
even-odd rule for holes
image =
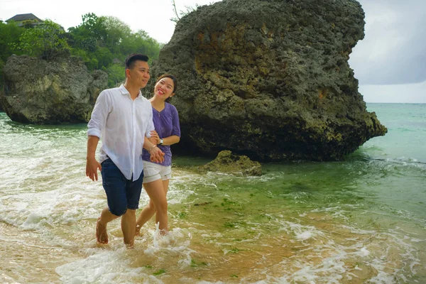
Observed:
[[[99,163],[107,156],[121,170],[127,180],[138,180],[143,170],[142,148],[144,136],[154,130],[151,102],[142,97],[133,101],[121,84],[99,94],[92,117],[87,124],[88,136],[102,140]]]

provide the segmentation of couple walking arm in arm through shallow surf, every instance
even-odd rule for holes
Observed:
[[[161,233],[168,231],[170,145],[180,140],[178,111],[168,100],[175,95],[178,82],[173,75],[162,75],[148,100],[141,89],[149,79],[148,57],[129,55],[126,82],[99,94],[88,124],[86,175],[98,180],[97,170],[101,171],[108,203],[97,219],[99,244],[108,243],[107,224],[119,217],[128,246],[133,246],[135,235],[154,214]],[[95,152],[100,138],[98,161]],[[142,185],[150,202],[136,221]]]

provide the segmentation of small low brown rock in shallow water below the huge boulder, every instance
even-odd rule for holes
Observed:
[[[262,175],[261,163],[249,159],[245,155],[235,155],[231,151],[221,151],[212,162],[197,168],[201,173],[220,172],[231,175]]]

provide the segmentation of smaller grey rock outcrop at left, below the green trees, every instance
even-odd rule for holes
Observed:
[[[4,111],[13,121],[31,124],[88,121],[108,82],[107,73],[89,74],[77,58],[46,61],[26,55],[7,60],[4,78]]]

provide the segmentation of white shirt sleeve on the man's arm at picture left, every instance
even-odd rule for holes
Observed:
[[[107,92],[102,91],[97,97],[96,103],[92,111],[92,116],[87,124],[87,136],[97,136],[101,138],[102,130],[107,124],[107,117],[109,114],[109,99]]]

